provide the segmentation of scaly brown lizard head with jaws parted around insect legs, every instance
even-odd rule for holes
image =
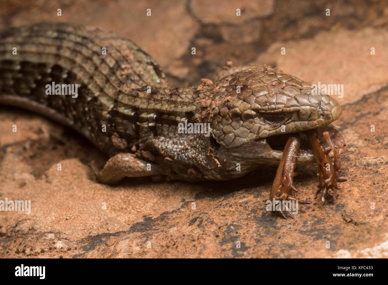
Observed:
[[[338,144],[343,139],[330,125],[342,112],[337,101],[278,69],[246,69],[216,84],[218,92],[212,95],[217,101],[211,120],[213,138],[246,161],[279,161],[291,133],[319,129],[321,133],[329,131]],[[314,155],[308,143],[304,146],[303,135],[297,162],[311,163]]]

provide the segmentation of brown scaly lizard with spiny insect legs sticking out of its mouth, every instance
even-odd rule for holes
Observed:
[[[279,69],[233,70],[214,83],[173,88],[151,56],[117,34],[41,23],[0,33],[0,74],[0,105],[71,127],[109,156],[101,170],[92,165],[101,183],[229,180],[273,163],[270,197],[309,203],[291,196],[296,163],[336,164],[331,174],[320,167],[323,200],[340,181],[347,144],[331,123],[341,106]],[[48,94],[54,82],[76,84],[76,96]]]

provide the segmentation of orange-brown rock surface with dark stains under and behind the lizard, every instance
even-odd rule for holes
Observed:
[[[315,165],[298,165],[296,197],[312,204],[301,205],[295,220],[265,210],[276,165],[228,182],[102,185],[90,163],[106,158],[83,137],[2,107],[0,200],[31,200],[31,213],[0,212],[0,258],[388,257],[388,10],[379,2],[339,1],[329,17],[326,3],[307,0],[257,2],[264,10],[194,0],[36,3],[0,3],[1,27],[62,21],[114,31],[154,57],[173,86],[213,80],[227,60],[344,84],[334,125],[348,141],[341,156],[347,181],[338,201],[322,203],[314,200]]]

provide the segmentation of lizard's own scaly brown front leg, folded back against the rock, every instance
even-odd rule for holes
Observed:
[[[151,161],[138,158],[133,153],[118,153],[109,158],[104,168],[98,170],[92,163],[97,180],[105,184],[114,184],[124,177],[141,177],[163,174],[163,169]]]

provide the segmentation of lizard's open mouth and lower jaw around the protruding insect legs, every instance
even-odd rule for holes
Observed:
[[[338,153],[340,155],[344,153],[348,144],[346,143],[346,139],[345,137],[343,137],[340,130],[338,130],[336,127],[334,127],[331,124],[327,126],[319,127],[317,129],[319,139],[322,141],[325,151],[330,151],[329,156],[333,157],[333,150],[331,150],[330,146],[327,144],[327,141],[323,136],[324,132],[329,132],[331,141],[333,142],[334,147],[338,149]],[[307,139],[307,135],[304,132],[300,132],[299,136],[301,139],[301,143],[300,143],[300,149],[298,152],[299,157],[296,159],[296,163],[315,162],[314,152]],[[286,146],[288,137],[289,137],[289,134],[284,134],[284,135],[272,136],[272,137],[268,137],[267,139],[264,139],[268,144],[268,146],[272,149],[272,155],[279,157],[279,160],[283,155],[283,149]]]

